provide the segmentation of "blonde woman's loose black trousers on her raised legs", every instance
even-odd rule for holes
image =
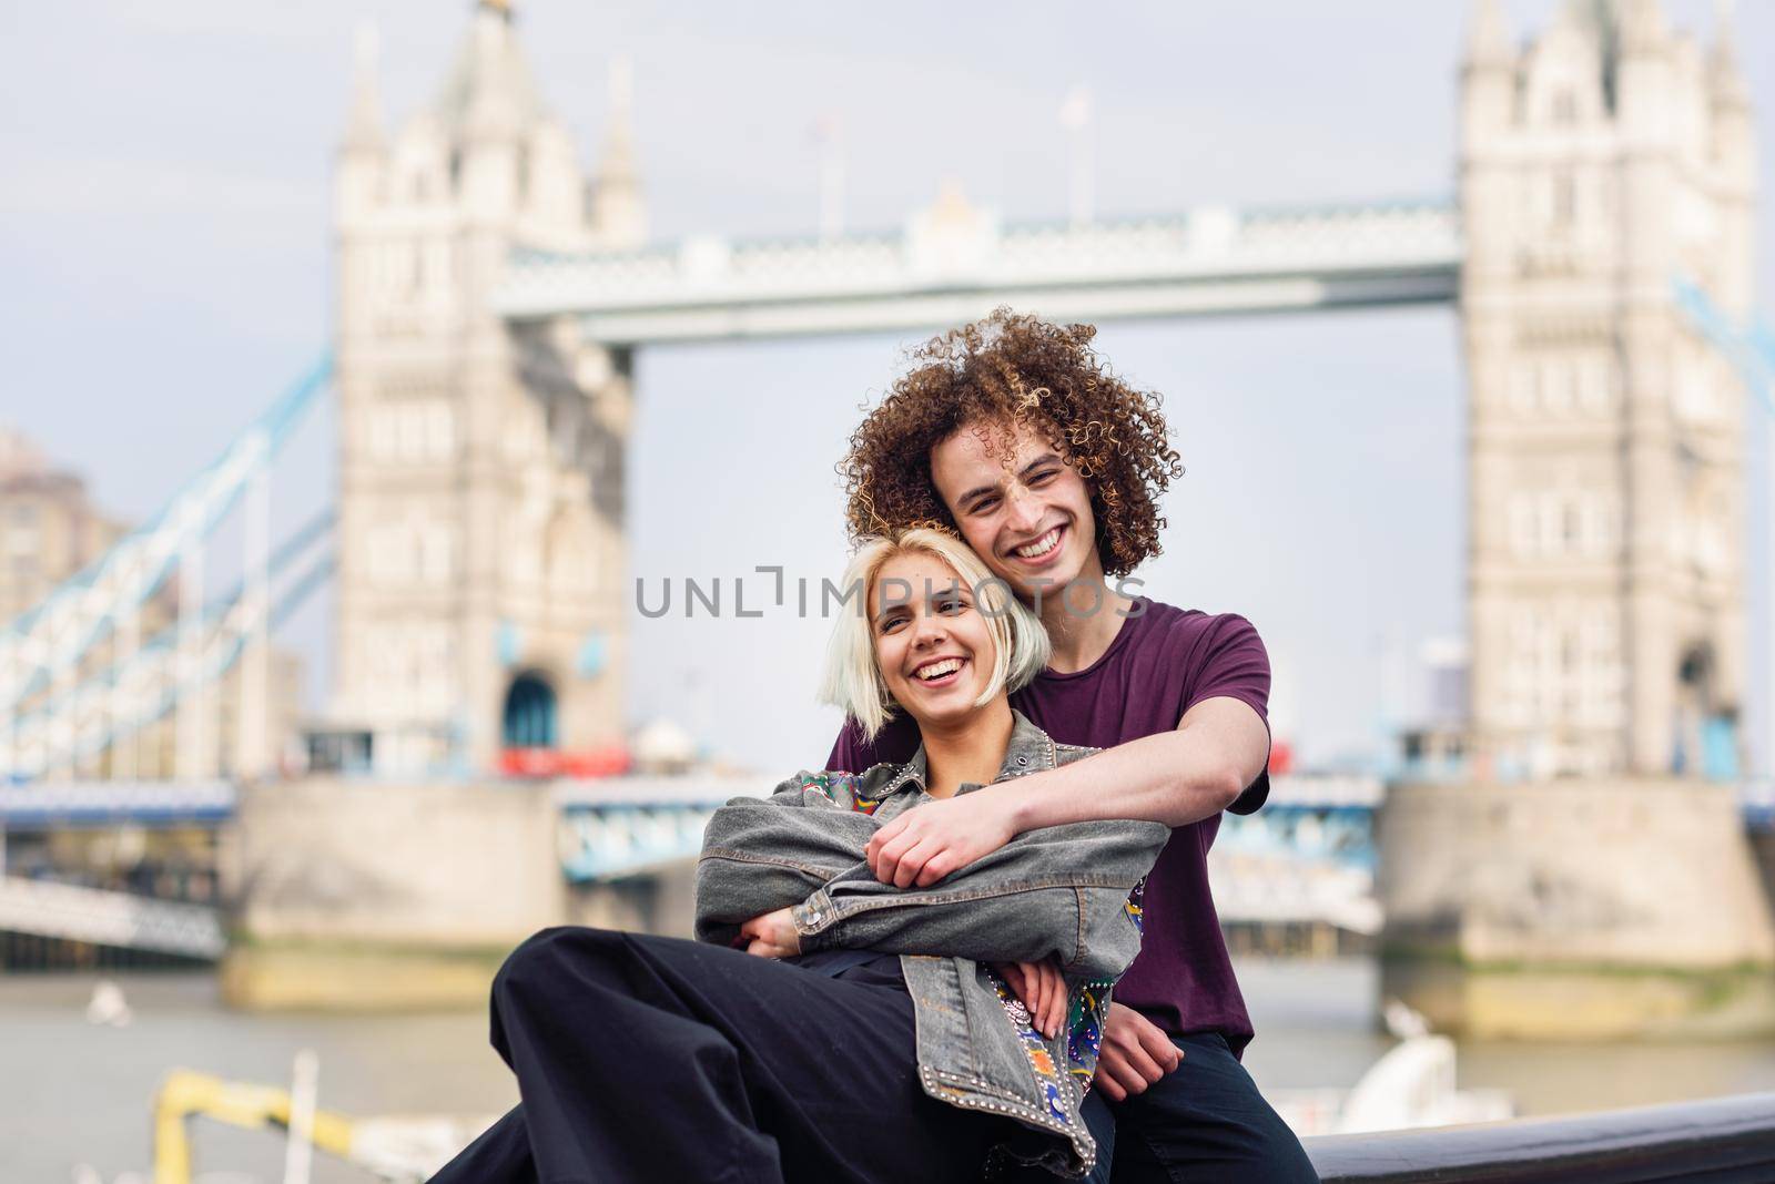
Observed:
[[[978,1179],[1015,1124],[925,1094],[896,968],[845,975],[673,938],[536,934],[493,980],[493,1048],[524,1101],[431,1179]]]

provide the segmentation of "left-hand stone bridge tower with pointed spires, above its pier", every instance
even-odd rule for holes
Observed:
[[[612,80],[588,184],[508,4],[390,138],[360,35],[335,168],[339,581],[332,727],[383,771],[492,767],[623,728],[628,358],[492,310],[525,246],[627,248],[646,211]]]

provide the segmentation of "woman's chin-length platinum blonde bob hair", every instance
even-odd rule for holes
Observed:
[[[1003,580],[994,576],[973,548],[946,530],[914,526],[893,535],[870,535],[845,567],[843,594],[856,590],[852,608],[843,601],[832,642],[825,656],[825,675],[820,679],[820,702],[840,707],[857,721],[866,739],[875,739],[882,725],[898,711],[888,693],[888,682],[875,665],[875,629],[870,622],[870,590],[882,565],[896,555],[921,553],[948,564],[973,597],[974,611],[985,617],[987,631],[998,650],[992,659],[992,677],[987,689],[974,700],[976,707],[992,702],[999,691],[1015,691],[1030,682],[1047,665],[1047,629],[1030,611]]]

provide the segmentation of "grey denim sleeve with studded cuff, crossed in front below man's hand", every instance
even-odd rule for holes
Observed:
[[[804,952],[859,948],[976,962],[1054,955],[1072,978],[1116,978],[1140,954],[1129,890],[1170,831],[1097,821],[1026,831],[925,890],[882,884],[859,865],[793,909]]]

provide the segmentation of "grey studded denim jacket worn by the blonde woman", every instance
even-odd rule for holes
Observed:
[[[1022,713],[1014,716],[998,782],[1095,752],[1056,744]],[[902,766],[797,773],[770,798],[730,801],[703,835],[696,936],[728,945],[753,916],[792,907],[806,954],[900,954],[925,1092],[1063,1136],[1019,1138],[998,1157],[1085,1175],[1097,1149],[1079,1102],[1097,1065],[1109,989],[1140,952],[1138,886],[1170,830],[1131,821],[1049,826],[930,888],[882,884],[864,847],[884,822],[932,801],[925,778],[919,748]],[[1069,1030],[1054,1039],[1035,1030],[1010,987],[982,964],[1049,955],[1072,996]]]

